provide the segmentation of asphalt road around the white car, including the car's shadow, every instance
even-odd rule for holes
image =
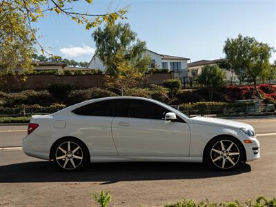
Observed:
[[[92,193],[101,189],[110,191],[110,206],[276,197],[276,119],[240,121],[255,127],[262,157],[233,172],[184,163],[92,164],[83,172],[60,172],[50,161],[0,148],[0,206],[97,206]],[[26,132],[14,130],[26,126],[0,126],[0,146],[21,146]]]

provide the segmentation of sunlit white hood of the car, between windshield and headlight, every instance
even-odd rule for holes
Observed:
[[[202,124],[208,126],[222,126],[222,127],[229,127],[229,128],[250,128],[252,130],[253,127],[249,124],[245,124],[239,121],[231,121],[228,119],[217,119],[217,118],[210,118],[210,117],[193,117],[190,118],[194,124]]]

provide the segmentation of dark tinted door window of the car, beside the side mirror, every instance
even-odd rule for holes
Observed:
[[[161,120],[164,119],[165,114],[169,112],[166,108],[155,103],[137,99],[116,99],[115,106],[116,117]]]

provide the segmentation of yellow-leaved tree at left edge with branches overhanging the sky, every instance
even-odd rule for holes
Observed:
[[[117,19],[125,19],[126,8],[115,12],[106,12],[103,14],[90,14],[88,12],[77,11],[77,3],[83,0],[0,0],[0,50],[5,51],[1,54],[1,63],[3,68],[10,70],[16,68],[18,64],[21,68],[30,68],[31,46],[36,42],[44,52],[51,55],[43,49],[36,35],[36,30],[32,28],[32,23],[39,21],[48,12],[63,14],[84,24],[86,30],[97,27],[106,22],[113,24]],[[85,0],[92,3],[92,0]]]

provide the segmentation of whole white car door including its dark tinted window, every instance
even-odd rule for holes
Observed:
[[[178,117],[164,121],[168,109],[141,99],[115,99],[112,136],[120,156],[188,156],[190,128]]]

